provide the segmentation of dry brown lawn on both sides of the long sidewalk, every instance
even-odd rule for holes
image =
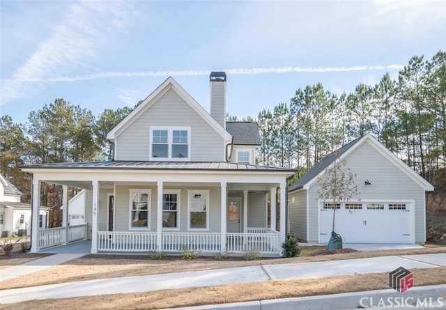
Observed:
[[[217,261],[212,257],[195,261],[183,261],[179,257],[160,261],[148,260],[146,256],[87,255],[82,258],[46,270],[25,275],[17,279],[0,282],[0,289],[20,288],[43,284],[56,284],[68,281],[105,279],[111,277],[160,274],[233,268],[247,265],[270,265],[278,263],[303,263],[310,261],[333,261],[339,259],[365,258],[388,255],[410,255],[445,253],[445,247],[426,247],[424,249],[356,251],[346,254],[310,256],[321,247],[302,247],[301,256],[296,258],[270,258],[261,261],[243,261],[231,258]],[[2,260],[0,260],[1,262]],[[5,260],[6,261],[6,260]],[[411,270],[415,286],[446,284],[446,268],[426,268]],[[186,288],[180,290],[158,290],[147,293],[101,295],[94,297],[75,297],[57,300],[34,300],[17,304],[0,305],[0,309],[66,309],[76,305],[76,309],[162,309],[186,307],[199,304],[219,304],[243,302],[307,295],[348,293],[362,290],[388,288],[388,273],[355,274],[346,277],[321,279],[299,279],[289,281],[266,281],[251,284],[213,286],[211,288]]]

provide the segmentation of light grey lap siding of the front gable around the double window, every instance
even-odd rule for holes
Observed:
[[[116,139],[116,160],[149,160],[151,126],[190,126],[191,161],[224,160],[223,138],[170,89]]]

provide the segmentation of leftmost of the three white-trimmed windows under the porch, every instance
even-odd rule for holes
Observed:
[[[151,189],[130,189],[130,228],[150,228]]]

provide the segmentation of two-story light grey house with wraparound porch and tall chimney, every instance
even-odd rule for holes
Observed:
[[[286,201],[286,178],[294,170],[255,164],[259,128],[226,123],[225,97],[224,72],[210,74],[210,113],[169,77],[107,134],[114,160],[22,167],[33,173],[36,212],[43,181],[63,185],[64,192],[85,189],[88,227],[68,226],[64,209],[63,236],[36,228],[31,251],[70,242],[78,229],[88,233],[92,253],[188,247],[280,254],[286,221],[276,227],[276,215],[286,219],[286,203],[277,208],[277,200]]]

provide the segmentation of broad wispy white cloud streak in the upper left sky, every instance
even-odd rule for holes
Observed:
[[[95,55],[105,34],[121,29],[122,20],[129,18],[124,14],[126,8],[125,3],[118,2],[72,4],[67,18],[54,26],[51,36],[38,45],[11,79],[1,81],[0,104],[32,95],[47,82],[52,82],[52,76],[86,65],[84,60]],[[106,19],[111,22],[104,23]]]

